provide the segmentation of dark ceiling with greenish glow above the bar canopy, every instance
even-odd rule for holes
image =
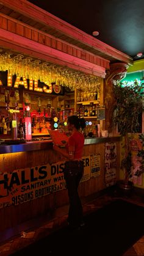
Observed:
[[[29,0],[41,9],[67,21],[87,34],[128,54],[144,59],[143,0]],[[137,57],[142,53],[142,57]]]

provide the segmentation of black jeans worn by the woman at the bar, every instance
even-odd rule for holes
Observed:
[[[83,161],[68,161],[65,163],[64,177],[68,189],[70,208],[68,211],[68,222],[72,227],[82,223],[82,204],[78,194],[79,182],[84,174]]]

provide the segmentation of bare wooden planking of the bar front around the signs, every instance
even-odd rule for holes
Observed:
[[[84,156],[90,156],[93,154],[100,153],[100,175],[98,175],[98,177],[96,178],[90,178],[90,180],[84,181],[79,185],[79,194],[81,198],[90,196],[106,188],[106,184],[104,181],[104,175],[105,175],[104,152],[105,152],[106,142],[115,142],[117,145],[116,178],[118,180],[118,174],[120,169],[120,159],[119,159],[120,137],[98,138],[98,141],[94,144],[87,144],[87,140],[85,140]],[[38,143],[40,144],[40,142]],[[34,147],[34,144],[35,142],[31,143],[32,147]],[[60,156],[57,152],[54,152],[54,150],[52,150],[51,142],[41,142],[41,144],[43,144],[43,149],[41,150],[31,150],[31,148],[29,148],[30,151],[25,151],[25,152],[4,153],[4,154],[2,154],[1,152],[0,154],[1,174],[2,172],[4,172],[4,174],[7,174],[9,172],[12,173],[14,170],[18,170],[18,169],[26,169],[27,167],[42,166],[46,164],[57,163],[59,161],[65,161],[65,159],[62,156]],[[9,147],[9,146],[5,146],[5,147]],[[35,149],[37,149],[37,147],[35,147]],[[13,195],[14,194],[15,192],[13,192]],[[7,196],[7,199],[9,199],[9,196]],[[9,205],[9,203],[8,204],[1,203],[0,231],[4,231],[9,228],[16,227],[19,224],[23,224],[26,221],[29,221],[34,218],[38,218],[40,216],[44,216],[45,214],[49,214],[49,213],[52,214],[54,210],[67,204],[68,204],[67,189],[62,189],[57,192],[51,192],[47,196],[38,197],[37,199],[29,200],[28,202],[20,203],[18,205]]]

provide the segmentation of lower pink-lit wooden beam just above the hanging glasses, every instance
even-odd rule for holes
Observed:
[[[57,49],[41,45],[28,38],[13,34],[12,32],[0,29],[0,46],[13,49],[16,52],[33,56],[38,59],[46,60],[54,64],[74,68],[92,75],[105,78],[106,70],[104,67],[79,59],[67,53],[62,53]]]

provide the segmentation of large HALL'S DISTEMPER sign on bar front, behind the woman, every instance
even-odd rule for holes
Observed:
[[[84,176],[81,182],[90,179],[90,156],[84,161]],[[63,175],[65,161],[43,166],[0,172],[0,208],[26,203],[66,189]]]

